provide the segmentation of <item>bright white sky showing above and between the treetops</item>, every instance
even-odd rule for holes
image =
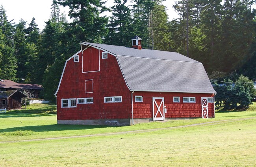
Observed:
[[[113,6],[114,0],[107,0],[106,6]],[[177,18],[178,15],[174,11],[172,5],[175,0],[166,0],[163,4],[167,7],[167,14],[169,20]],[[52,0],[0,0],[0,5],[3,5],[6,10],[8,20],[12,20],[15,24],[19,23],[22,18],[27,23],[30,23],[35,17],[35,22],[41,30],[45,27],[45,22],[50,18]],[[60,6],[61,13],[65,13],[67,20],[70,22],[68,16],[69,7],[63,8]],[[110,16],[111,13],[104,13]]]

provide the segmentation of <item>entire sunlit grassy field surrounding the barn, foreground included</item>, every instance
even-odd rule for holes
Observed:
[[[152,131],[125,133],[143,129]],[[124,134],[42,139],[111,132]],[[18,141],[24,139],[39,140]],[[0,115],[0,167],[254,167],[255,152],[256,103],[243,112],[216,112],[215,119],[171,120],[129,127],[56,125],[56,114],[18,111]]]

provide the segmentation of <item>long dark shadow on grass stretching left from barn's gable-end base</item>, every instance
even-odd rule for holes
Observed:
[[[94,128],[106,128],[108,126],[98,126],[98,125],[37,125],[37,126],[25,126],[25,127],[13,127],[1,129],[0,132],[14,132],[17,130],[31,130],[33,132],[52,132],[52,131],[62,131],[62,130],[87,130]]]

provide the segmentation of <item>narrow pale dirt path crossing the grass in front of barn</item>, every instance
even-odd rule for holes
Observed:
[[[24,141],[43,141],[43,140],[70,139],[70,138],[88,138],[88,137],[94,137],[94,136],[111,136],[111,135],[117,135],[117,134],[135,134],[135,133],[143,133],[143,132],[154,132],[154,131],[158,131],[158,130],[171,130],[171,129],[176,129],[176,128],[216,125],[216,124],[222,124],[222,123],[240,121],[240,120],[247,120],[247,119],[256,119],[256,117],[241,118],[241,119],[228,119],[228,120],[222,120],[222,121],[210,121],[210,122],[205,122],[205,123],[195,123],[195,124],[191,124],[191,125],[183,125],[183,126],[178,126],[178,127],[132,130],[132,131],[126,131],[126,132],[113,132],[113,133],[103,133],[103,134],[88,134],[88,135],[81,135],[81,136],[65,136],[65,137],[56,137],[56,138],[1,141],[0,143],[15,143],[15,142],[24,142]]]

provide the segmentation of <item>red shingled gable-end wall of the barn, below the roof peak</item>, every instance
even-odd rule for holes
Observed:
[[[83,51],[91,60],[99,56],[96,48]],[[108,54],[102,59],[100,50],[100,72],[82,73],[82,52],[79,62],[70,59],[57,94],[57,119],[59,120],[97,120],[97,119],[129,119],[131,113],[131,93],[126,86],[116,57]],[[89,66],[88,68],[86,66]],[[97,68],[83,61],[83,69]],[[85,80],[93,80],[93,93],[85,92]],[[122,96],[121,103],[104,103],[104,97]],[[77,104],[74,108],[61,108],[61,99],[93,97],[93,104]]]

